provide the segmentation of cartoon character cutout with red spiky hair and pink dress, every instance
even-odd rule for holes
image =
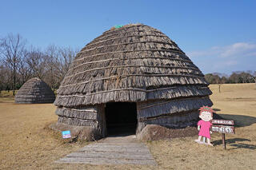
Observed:
[[[214,110],[211,109],[208,106],[202,106],[202,108],[199,109],[199,117],[202,119],[198,121],[198,139],[195,140],[198,142],[198,144],[209,144],[210,146],[213,146],[213,144],[210,144],[210,134],[212,133],[210,131],[210,127],[212,126],[211,120],[213,119],[213,113]],[[201,138],[203,137],[203,141],[201,141]],[[207,139],[207,143],[206,143]]]

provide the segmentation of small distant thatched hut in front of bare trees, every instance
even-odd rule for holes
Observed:
[[[26,81],[15,95],[16,103],[54,103],[54,100],[54,92],[39,78]]]

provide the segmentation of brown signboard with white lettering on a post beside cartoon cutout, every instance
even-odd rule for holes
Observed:
[[[211,130],[222,133],[222,144],[226,149],[225,133],[234,134],[234,121],[232,120],[212,120]],[[216,125],[217,124],[217,125]]]

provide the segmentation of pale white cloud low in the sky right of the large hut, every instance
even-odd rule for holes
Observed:
[[[226,46],[186,53],[203,73],[227,73],[238,70],[255,70],[256,44],[237,42]]]

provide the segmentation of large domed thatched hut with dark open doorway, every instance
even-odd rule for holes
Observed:
[[[112,126],[137,133],[146,125],[185,128],[196,124],[202,105],[212,105],[208,83],[186,53],[142,24],[112,28],[87,44],[57,93],[55,127],[99,136]]]

